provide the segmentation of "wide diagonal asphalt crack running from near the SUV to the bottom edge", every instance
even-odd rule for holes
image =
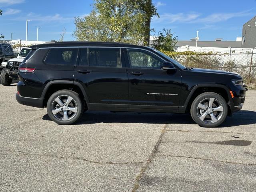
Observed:
[[[145,164],[144,166],[142,166],[142,168],[141,168],[141,170],[140,170],[138,176],[136,176],[136,179],[135,179],[135,183],[134,183],[134,187],[133,187],[133,189],[132,189],[132,192],[136,192],[136,190],[137,190],[138,188],[140,188],[140,185],[139,185],[140,179],[142,178],[144,172],[147,170],[147,168],[148,168],[150,162],[152,161],[152,158],[155,156],[155,153],[156,153],[157,150],[158,150],[158,147],[159,147],[159,145],[160,145],[160,143],[161,143],[161,141],[162,141],[162,138],[163,138],[163,136],[164,136],[164,133],[166,132],[166,128],[167,128],[167,124],[164,125],[164,127],[162,128],[162,130],[160,130],[161,134],[160,134],[160,136],[159,136],[159,138],[158,138],[156,144],[154,145],[154,148],[153,148],[153,150],[152,150],[152,152],[151,152],[151,154],[150,154],[150,156],[149,156],[149,158],[148,158],[146,164]]]

